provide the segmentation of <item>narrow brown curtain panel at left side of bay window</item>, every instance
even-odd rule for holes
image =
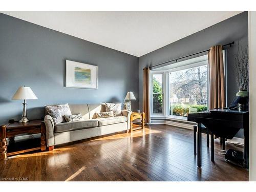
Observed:
[[[145,123],[150,123],[150,68],[143,69],[143,111]]]

